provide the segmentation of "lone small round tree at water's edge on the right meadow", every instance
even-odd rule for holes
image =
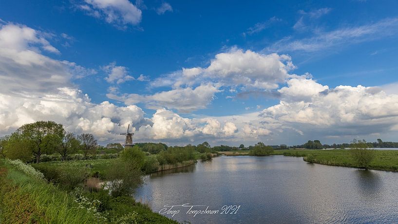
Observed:
[[[351,155],[360,168],[368,168],[376,156],[375,149],[369,149],[365,140],[354,139],[350,145]]]

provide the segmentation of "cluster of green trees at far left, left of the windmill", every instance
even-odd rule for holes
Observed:
[[[87,159],[89,153],[95,153],[97,140],[91,133],[65,131],[62,124],[54,121],[38,121],[25,124],[0,139],[1,153],[10,159],[24,162],[40,162],[43,154],[59,153],[61,160],[77,151]]]

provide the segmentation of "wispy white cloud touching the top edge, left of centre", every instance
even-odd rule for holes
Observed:
[[[141,21],[142,12],[129,0],[85,0],[86,4],[79,8],[95,18],[104,18],[106,22],[120,28],[126,25],[137,25]]]

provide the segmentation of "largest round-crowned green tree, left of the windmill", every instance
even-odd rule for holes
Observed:
[[[57,124],[54,121],[38,121],[21,126],[13,134],[32,151],[36,157],[35,162],[39,163],[41,154],[54,152],[59,145],[63,131],[62,124]],[[14,141],[14,143],[16,142]],[[18,149],[19,147],[10,146],[11,148]]]

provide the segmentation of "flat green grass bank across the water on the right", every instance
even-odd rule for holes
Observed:
[[[248,151],[223,151],[223,155],[248,155]],[[276,149],[273,155],[303,157],[304,161],[340,167],[359,168],[349,149]],[[398,171],[398,150],[375,150],[376,157],[369,169]]]

